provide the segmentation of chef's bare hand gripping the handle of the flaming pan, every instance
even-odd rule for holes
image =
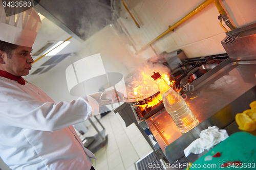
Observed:
[[[95,93],[91,94],[90,96],[99,103],[99,106],[105,106],[123,101],[123,93],[120,93],[116,90]]]

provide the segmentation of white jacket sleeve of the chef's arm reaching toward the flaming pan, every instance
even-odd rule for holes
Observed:
[[[25,96],[24,96],[25,97]],[[59,103],[29,100],[0,102],[0,125],[19,128],[57,131],[87,120],[92,114],[99,114],[99,104],[90,96]]]

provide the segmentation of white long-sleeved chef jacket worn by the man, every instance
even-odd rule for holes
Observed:
[[[0,157],[13,170],[90,170],[95,156],[72,125],[98,108],[90,96],[56,104],[28,81],[0,77]]]

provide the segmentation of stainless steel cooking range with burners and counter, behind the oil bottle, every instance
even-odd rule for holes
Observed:
[[[199,120],[196,128],[181,134],[156,93],[115,110],[126,127],[135,123],[158,156],[171,164],[194,162],[204,155],[207,151],[184,157],[183,150],[209,126],[226,129],[229,135],[238,132],[234,117],[256,100],[256,23],[226,35],[221,43],[227,54],[186,59],[182,51],[163,53],[169,82]],[[155,98],[159,103],[150,106]]]

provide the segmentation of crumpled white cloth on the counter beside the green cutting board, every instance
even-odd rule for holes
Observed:
[[[208,127],[208,129],[201,131],[200,138],[194,140],[188,145],[188,147],[184,150],[184,154],[186,157],[190,153],[201,154],[204,152],[204,150],[210,150],[227,137],[228,134],[226,130],[219,130],[217,126]]]

